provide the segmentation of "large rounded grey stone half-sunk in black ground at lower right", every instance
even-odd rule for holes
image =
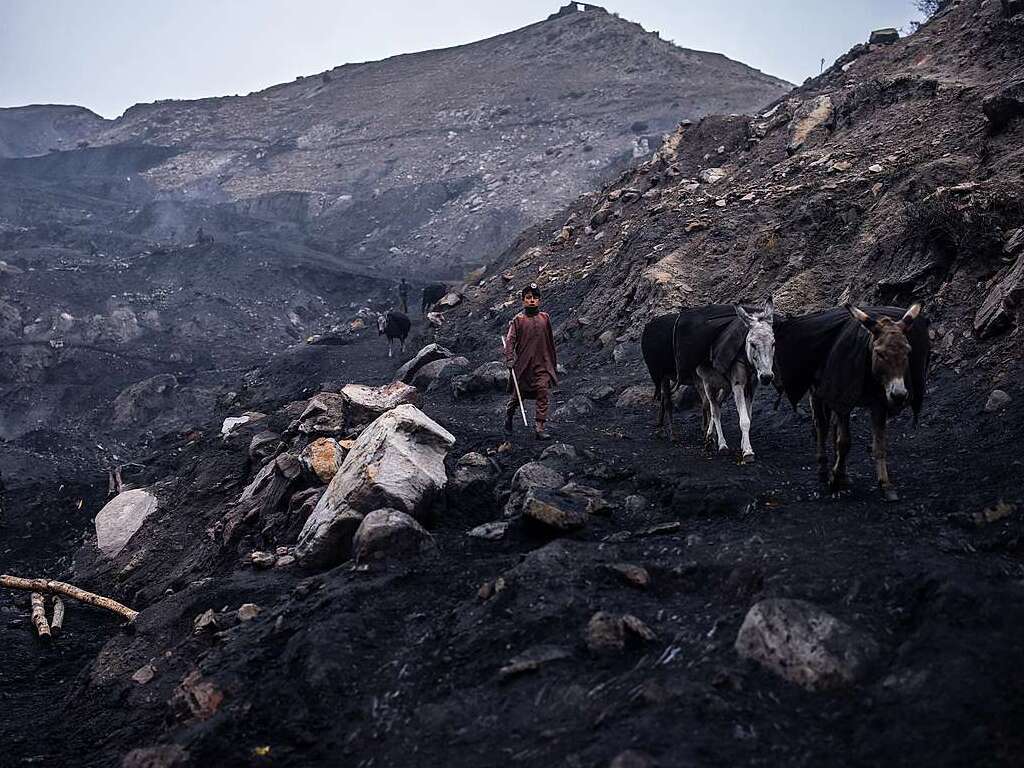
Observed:
[[[769,598],[748,611],[736,652],[808,690],[856,681],[878,645],[821,608],[803,600]]]

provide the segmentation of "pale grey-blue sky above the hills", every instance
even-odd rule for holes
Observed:
[[[539,22],[561,0],[0,0],[0,106],[248,93],[338,65],[472,42]],[[608,0],[678,45],[795,83],[912,0]]]

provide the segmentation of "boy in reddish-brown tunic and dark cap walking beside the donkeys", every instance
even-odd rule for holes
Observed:
[[[548,391],[558,383],[558,360],[551,318],[541,311],[541,289],[536,283],[522,289],[522,311],[512,318],[505,336],[505,362],[515,372],[523,399],[537,401],[535,437],[549,439],[544,425],[548,420]],[[509,392],[505,407],[506,432],[512,431],[512,421],[519,408],[511,377]]]

